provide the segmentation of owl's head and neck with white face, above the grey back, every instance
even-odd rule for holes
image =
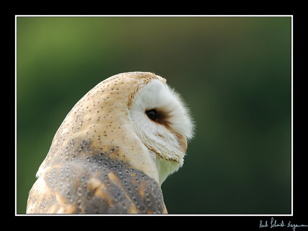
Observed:
[[[194,128],[166,79],[150,72],[114,75],[68,113],[37,175],[49,165],[104,153],[162,184],[183,165]]]

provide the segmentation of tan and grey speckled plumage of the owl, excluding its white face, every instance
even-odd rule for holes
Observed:
[[[114,75],[76,103],[37,172],[27,213],[167,213],[156,158],[170,157],[149,151],[128,123],[134,97],[153,79],[166,83],[150,72]],[[184,136],[174,136],[185,152]]]

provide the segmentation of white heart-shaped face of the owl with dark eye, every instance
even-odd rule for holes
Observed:
[[[184,161],[187,140],[193,138],[193,122],[180,95],[165,79],[151,79],[138,86],[128,121],[156,160],[160,184]]]

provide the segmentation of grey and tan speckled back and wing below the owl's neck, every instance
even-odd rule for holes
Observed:
[[[27,213],[167,213],[159,184],[101,156],[45,168],[30,190]]]

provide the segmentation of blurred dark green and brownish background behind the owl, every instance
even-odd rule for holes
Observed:
[[[17,17],[17,213],[67,113],[127,71],[165,77],[197,123],[169,213],[291,213],[290,17]]]

